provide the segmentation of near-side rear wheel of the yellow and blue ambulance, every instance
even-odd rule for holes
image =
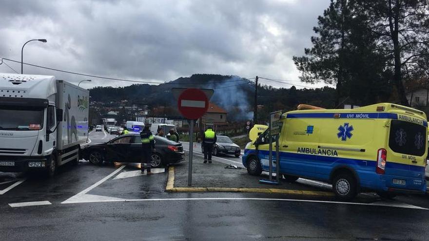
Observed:
[[[335,196],[342,201],[349,201],[356,196],[356,179],[349,173],[339,173],[332,182]]]

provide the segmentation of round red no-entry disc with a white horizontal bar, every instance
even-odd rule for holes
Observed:
[[[185,118],[196,120],[206,113],[209,108],[209,99],[201,90],[186,89],[179,95],[177,107]]]

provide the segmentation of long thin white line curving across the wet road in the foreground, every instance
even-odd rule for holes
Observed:
[[[414,206],[403,203],[388,203],[388,202],[376,202],[371,204],[364,203],[347,203],[347,202],[334,202],[334,201],[320,201],[320,200],[300,200],[300,199],[278,199],[278,198],[160,198],[160,199],[123,199],[123,200],[111,200],[111,201],[97,201],[88,200],[86,202],[79,203],[99,203],[99,202],[154,202],[154,201],[213,201],[213,200],[251,200],[251,201],[281,201],[281,202],[304,202],[304,203],[323,203],[323,204],[349,204],[349,205],[363,205],[363,206],[387,206],[387,207],[401,207],[401,208],[412,208],[412,209],[423,209],[428,208]],[[64,204],[61,203],[61,204]]]

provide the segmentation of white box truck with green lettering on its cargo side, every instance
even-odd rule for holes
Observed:
[[[55,76],[0,73],[0,171],[78,163],[88,140],[89,91]]]

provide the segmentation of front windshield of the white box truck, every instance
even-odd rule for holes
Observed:
[[[0,130],[40,130],[43,108],[0,107]]]

